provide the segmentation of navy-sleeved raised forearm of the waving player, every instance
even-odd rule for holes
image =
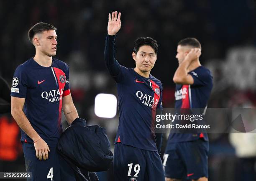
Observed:
[[[117,76],[120,71],[120,65],[115,59],[115,36],[107,35],[105,41],[104,61],[108,71],[112,76]]]

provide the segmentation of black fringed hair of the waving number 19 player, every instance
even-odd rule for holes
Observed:
[[[138,37],[136,41],[134,41],[133,52],[137,54],[139,48],[143,45],[151,46],[154,49],[155,53],[157,54],[157,51],[158,51],[157,41],[155,41],[153,38],[150,38],[150,37],[146,37],[146,38]]]

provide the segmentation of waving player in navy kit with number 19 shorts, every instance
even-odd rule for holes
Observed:
[[[115,34],[121,27],[121,13],[109,14],[104,59],[118,89],[119,126],[115,138],[115,181],[164,181],[159,156],[161,134],[154,133],[156,109],[162,105],[162,84],[150,74],[157,58],[153,38],[134,42],[134,69],[121,66],[114,56]]]

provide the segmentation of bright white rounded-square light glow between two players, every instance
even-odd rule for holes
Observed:
[[[113,118],[116,115],[117,99],[113,94],[97,94],[94,112],[98,117]]]

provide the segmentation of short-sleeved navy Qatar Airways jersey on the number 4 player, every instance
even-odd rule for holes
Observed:
[[[63,131],[62,97],[68,94],[69,67],[63,61],[53,58],[52,65],[44,67],[31,58],[14,72],[10,95],[26,99],[23,111],[48,145],[56,145]],[[23,130],[21,141],[33,143]]]

